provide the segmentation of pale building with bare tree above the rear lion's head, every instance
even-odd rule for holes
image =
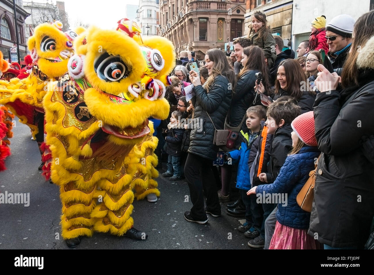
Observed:
[[[35,27],[45,22],[61,21],[62,31],[70,29],[68,15],[65,12],[65,2],[56,1],[55,4],[23,2],[24,9],[30,13],[25,20],[26,40],[30,37],[30,33],[34,34]]]

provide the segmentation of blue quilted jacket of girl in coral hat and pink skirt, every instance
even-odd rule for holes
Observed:
[[[302,210],[296,202],[296,196],[309,178],[309,172],[314,170],[314,162],[319,156],[317,147],[305,146],[297,154],[289,155],[272,184],[260,185],[257,194],[283,193],[287,194],[286,206],[278,203],[275,214],[280,224],[285,226],[308,229],[310,213]]]

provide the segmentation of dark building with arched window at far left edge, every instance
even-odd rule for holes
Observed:
[[[16,0],[16,18],[18,34],[15,30],[14,11],[12,0],[0,0],[0,51],[4,59],[11,61],[10,49],[16,44],[16,35],[19,40],[19,58],[21,61],[27,55],[27,46],[25,39],[25,18],[30,15],[22,6],[22,1]]]

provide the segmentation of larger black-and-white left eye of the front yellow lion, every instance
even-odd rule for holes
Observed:
[[[100,55],[93,67],[97,76],[106,82],[120,81],[130,74],[130,70],[119,55],[110,55],[107,52]]]

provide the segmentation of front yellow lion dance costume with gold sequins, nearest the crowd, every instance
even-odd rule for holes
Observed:
[[[62,237],[69,247],[94,231],[146,239],[130,217],[132,190],[138,199],[159,195],[157,138],[148,117],[168,116],[163,97],[174,47],[162,37],[143,43],[132,21],[120,25],[127,32],[91,27],[79,36],[69,73],[43,102],[51,177],[60,186]]]

